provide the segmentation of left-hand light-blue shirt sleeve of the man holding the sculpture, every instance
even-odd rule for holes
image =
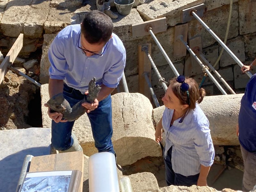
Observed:
[[[65,79],[68,70],[68,64],[64,57],[64,44],[58,38],[58,35],[52,41],[48,50],[48,58],[50,61],[49,76],[51,79]]]

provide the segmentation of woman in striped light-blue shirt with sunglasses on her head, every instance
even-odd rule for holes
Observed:
[[[162,98],[163,116],[156,126],[155,139],[166,136],[163,150],[167,185],[206,186],[213,164],[214,148],[209,121],[197,103],[202,102],[204,89],[192,78],[178,76]]]

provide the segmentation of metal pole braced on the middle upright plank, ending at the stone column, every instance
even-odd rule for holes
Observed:
[[[199,63],[199,65],[203,68],[203,70],[208,74],[208,76],[212,79],[213,83],[219,88],[220,92],[222,92],[223,95],[227,95],[227,93],[224,91],[224,89],[220,86],[218,81],[212,76],[208,68],[198,59],[196,54],[190,49],[188,44],[183,40],[183,36],[179,35],[178,40],[180,40],[187,48],[188,52],[195,58],[195,60]]]

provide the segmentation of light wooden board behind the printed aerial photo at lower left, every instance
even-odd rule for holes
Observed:
[[[82,151],[32,157],[29,172],[68,171],[82,172],[80,191],[83,191],[84,155]]]

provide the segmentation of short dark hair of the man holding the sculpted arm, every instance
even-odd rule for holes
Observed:
[[[88,12],[81,25],[82,34],[90,44],[106,43],[112,35],[113,28],[110,17],[96,10]]]

